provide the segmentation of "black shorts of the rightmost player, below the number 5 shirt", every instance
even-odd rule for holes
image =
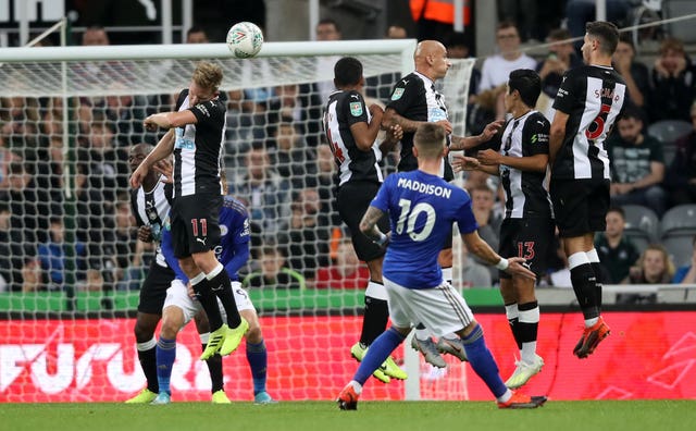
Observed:
[[[609,180],[551,180],[549,195],[561,237],[607,229]]]

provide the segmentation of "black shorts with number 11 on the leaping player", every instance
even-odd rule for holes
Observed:
[[[222,201],[222,195],[217,194],[198,194],[174,199],[170,220],[176,258],[209,251],[220,244],[219,217]]]

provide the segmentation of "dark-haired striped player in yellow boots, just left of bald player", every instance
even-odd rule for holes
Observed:
[[[334,84],[336,90],[328,96],[323,121],[326,139],[338,165],[338,214],[350,230],[356,255],[370,269],[360,341],[350,348],[352,357],[360,361],[372,342],[384,332],[389,319],[387,293],[382,282],[385,248],[360,232],[360,220],[384,182],[380,168],[382,152],[389,151],[402,133],[400,126],[393,125],[386,139],[376,146],[383,111],[377,104],[368,108],[362,98],[364,77],[359,60],[352,57],[338,60],[334,66]],[[384,218],[380,226],[388,231],[389,220]],[[390,378],[407,378],[391,357],[374,375],[384,383],[388,383]]]

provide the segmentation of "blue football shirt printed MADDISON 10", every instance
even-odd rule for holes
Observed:
[[[460,233],[478,227],[465,190],[420,170],[387,176],[371,206],[389,213],[391,242],[383,273],[403,287],[440,285],[437,256],[452,223],[458,223]]]

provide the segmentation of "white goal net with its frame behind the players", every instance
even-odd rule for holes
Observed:
[[[269,392],[333,399],[357,367],[349,348],[360,333],[366,269],[341,245],[323,104],[333,65],[346,54],[364,65],[369,102],[386,103],[412,70],[414,46],[265,44],[250,60],[232,59],[222,44],[0,50],[0,402],[120,402],[144,386],[133,327],[153,249],[136,241],[128,149],[161,137],[142,120],[173,110],[199,59],[224,70],[224,163],[231,194],[251,214],[243,276],[269,347]],[[472,66],[455,61],[443,83],[459,134]],[[397,158],[385,156],[386,173]],[[270,275],[273,262],[284,276]],[[178,342],[175,399],[210,399],[195,329]],[[225,359],[225,389],[251,399],[240,350]],[[403,360],[403,349],[396,356]],[[411,382],[423,391],[407,395],[403,382],[375,381],[364,398],[489,398],[467,387],[463,365],[436,375],[411,360]]]

